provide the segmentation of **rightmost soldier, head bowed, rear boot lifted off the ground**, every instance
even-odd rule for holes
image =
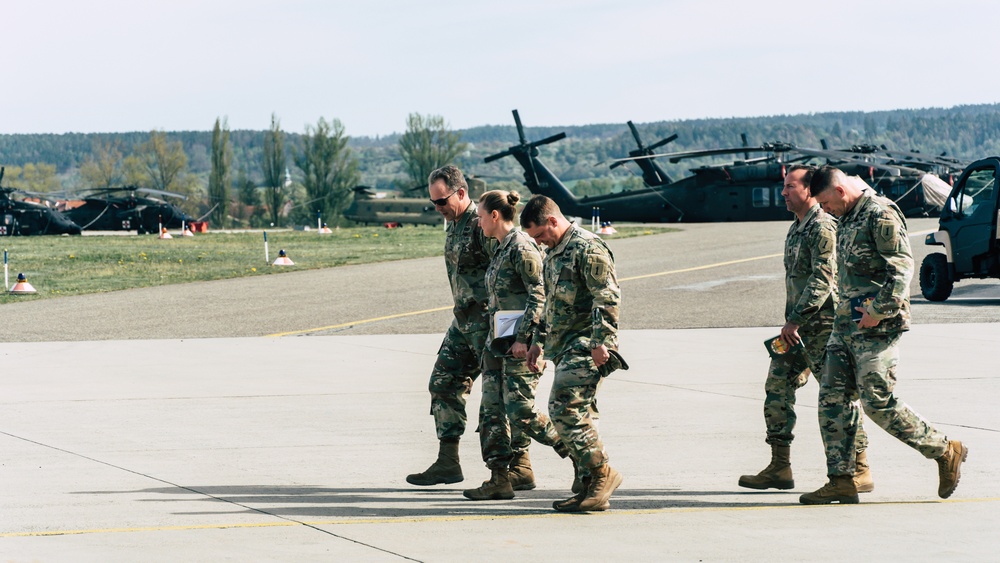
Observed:
[[[829,482],[802,495],[803,504],[857,503],[854,444],[860,413],[889,434],[938,463],[938,496],[958,486],[969,453],[893,394],[899,338],[910,327],[913,257],[903,213],[857,177],[826,166],[810,190],[837,227],[839,289],[833,335],[820,381],[820,433]],[[857,320],[854,320],[857,319]]]

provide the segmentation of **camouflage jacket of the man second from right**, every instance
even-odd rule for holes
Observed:
[[[806,333],[833,325],[837,220],[816,204],[785,237],[785,321]]]

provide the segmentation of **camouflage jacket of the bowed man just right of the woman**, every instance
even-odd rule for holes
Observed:
[[[546,356],[601,344],[618,349],[621,290],[611,249],[576,225],[545,257],[545,323],[536,336]]]

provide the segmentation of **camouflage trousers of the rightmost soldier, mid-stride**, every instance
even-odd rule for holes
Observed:
[[[926,458],[940,457],[948,438],[892,392],[896,385],[900,334],[834,334],[819,386],[820,434],[828,475],[854,474],[854,441],[865,414]]]

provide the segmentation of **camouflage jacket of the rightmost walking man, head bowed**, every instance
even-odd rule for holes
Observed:
[[[913,256],[903,213],[872,190],[862,192],[837,227],[837,334],[898,333],[910,328]],[[879,320],[859,329],[851,320],[851,298],[874,296],[866,309]]]

